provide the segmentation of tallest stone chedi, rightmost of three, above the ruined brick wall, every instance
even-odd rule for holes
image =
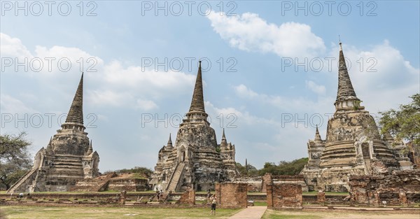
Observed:
[[[360,106],[339,43],[338,91],[335,113],[328,120],[325,141],[309,141],[309,162],[302,170],[308,185],[327,191],[349,190],[349,176],[385,174],[400,169],[381,139],[374,118]],[[319,156],[321,155],[321,156]]]

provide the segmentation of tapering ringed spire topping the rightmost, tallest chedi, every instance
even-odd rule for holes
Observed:
[[[338,65],[338,90],[335,104],[339,101],[355,100],[360,101],[356,97],[353,85],[351,84],[349,72],[347,71],[346,60],[342,49],[342,43],[339,42],[339,65]],[[337,105],[336,105],[337,107]],[[343,107],[343,106],[340,106]]]

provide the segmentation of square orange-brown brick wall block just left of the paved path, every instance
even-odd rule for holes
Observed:
[[[216,198],[222,208],[246,208],[247,193],[246,183],[216,183]]]

